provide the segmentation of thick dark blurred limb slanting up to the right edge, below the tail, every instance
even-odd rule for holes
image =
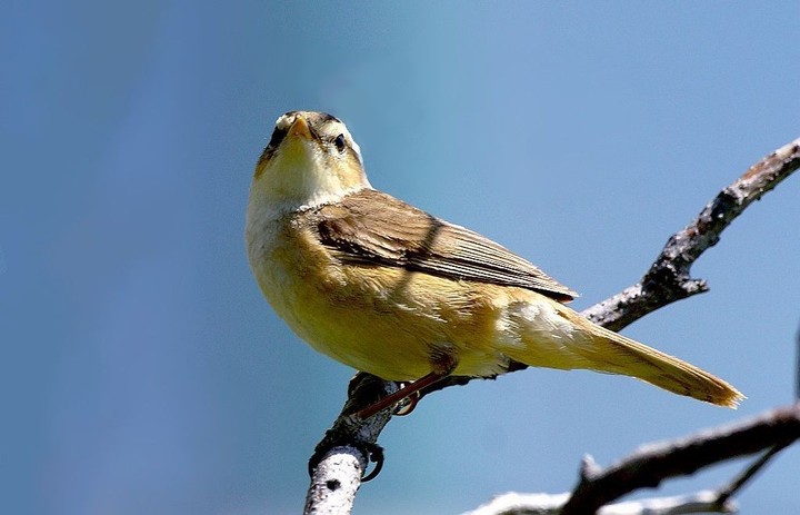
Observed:
[[[603,471],[584,472],[561,513],[594,513],[638,488],[656,487],[667,478],[691,475],[709,465],[786,446],[798,438],[800,404],[687,438],[651,444]]]

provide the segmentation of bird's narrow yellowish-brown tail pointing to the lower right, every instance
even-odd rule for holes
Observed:
[[[588,368],[637,377],[678,395],[731,408],[736,408],[744,398],[730,384],[694,365],[592,324],[566,306],[558,305],[556,309],[560,317],[578,330],[573,331],[572,341],[562,347],[571,357],[562,356],[560,362],[544,366]],[[524,347],[530,349],[529,346]],[[526,359],[531,357],[527,349],[509,355],[528,365],[541,366],[541,363]],[[534,358],[533,362],[538,359]]]

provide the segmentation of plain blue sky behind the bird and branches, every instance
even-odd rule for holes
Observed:
[[[247,265],[252,168],[282,112],[341,118],[373,186],[529,258],[583,309],[800,136],[799,16],[794,1],[3,2],[0,512],[300,512],[352,370],[294,337]],[[791,177],[697,263],[710,293],[624,330],[734,384],[738,412],[584,372],[474,382],[388,426],[354,513],[563,492],[584,453],[608,465],[791,402],[798,198]],[[742,513],[800,512],[798,471],[796,446]]]

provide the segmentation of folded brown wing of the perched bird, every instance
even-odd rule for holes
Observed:
[[[561,301],[578,296],[494,241],[373,189],[323,206],[317,215],[320,241],[343,261],[518,286]]]

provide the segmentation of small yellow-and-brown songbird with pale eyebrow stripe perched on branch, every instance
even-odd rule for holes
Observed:
[[[524,258],[373,189],[359,146],[330,115],[278,118],[256,166],[246,239],[263,295],[294,333],[386,380],[421,388],[518,362],[632,376],[721,406],[743,398],[580,316],[564,305],[577,294]]]

